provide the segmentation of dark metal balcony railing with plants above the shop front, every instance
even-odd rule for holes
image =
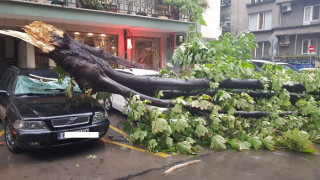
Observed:
[[[190,12],[162,4],[162,0],[20,0],[24,2],[92,9],[160,19],[190,21]]]

